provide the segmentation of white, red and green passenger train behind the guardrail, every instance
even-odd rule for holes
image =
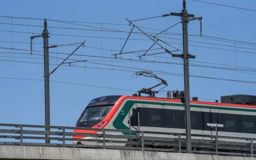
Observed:
[[[191,134],[215,136],[216,129],[207,126],[211,123],[223,124],[223,127],[218,128],[219,136],[256,138],[256,105],[202,101],[190,101],[190,104]],[[180,99],[114,95],[98,97],[90,101],[75,126],[185,133],[185,123],[185,108]],[[74,133],[97,132],[74,130]],[[115,134],[127,135],[129,133],[117,132]],[[154,136],[163,137],[164,135]],[[73,138],[97,139],[98,137],[73,136]],[[209,137],[197,138],[207,139]],[[96,141],[73,141],[73,143],[102,145],[102,142]],[[128,144],[112,145],[127,146]]]

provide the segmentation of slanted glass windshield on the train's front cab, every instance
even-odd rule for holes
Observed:
[[[81,121],[99,121],[102,120],[110,111],[112,106],[88,107],[80,118]]]

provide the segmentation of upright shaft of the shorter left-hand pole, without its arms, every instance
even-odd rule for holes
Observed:
[[[50,126],[50,75],[49,75],[49,33],[47,29],[47,22],[45,19],[45,29],[43,32],[44,38],[44,64],[45,64],[45,126]],[[45,131],[50,131],[50,128],[46,127]],[[50,137],[50,135],[45,135]],[[45,140],[45,143],[50,143],[50,140]]]

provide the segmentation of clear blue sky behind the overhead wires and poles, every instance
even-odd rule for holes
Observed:
[[[207,1],[256,10],[255,0]],[[162,53],[147,56],[161,63],[152,63],[151,59],[134,61],[139,60],[137,56],[143,52],[125,54],[133,60],[115,59],[111,53],[119,53],[128,33],[110,32],[110,29],[130,31],[132,26],[128,25],[125,18],[133,20],[170,12],[179,13],[182,10],[182,0],[5,0],[2,1],[0,10],[2,16],[49,19],[50,44],[73,44],[86,40],[85,47],[79,48],[75,53],[78,55],[71,56],[69,62],[72,62],[71,59],[88,61],[71,67],[61,66],[50,77],[51,81],[59,81],[50,82],[51,125],[74,126],[85,106],[93,98],[105,95],[132,95],[142,87],[151,87],[158,83],[155,79],[132,77],[137,71],[153,70],[168,82],[169,86],[164,90],[181,91],[184,88],[183,77],[173,74],[183,74],[181,59]],[[256,82],[256,12],[192,0],[187,0],[187,10],[189,14],[203,17],[204,35],[198,36],[200,21],[189,23],[189,34],[195,35],[189,36],[189,53],[196,55],[196,59],[190,61],[190,75],[208,77],[190,78],[191,97],[212,102],[220,100],[224,95],[256,95],[256,83],[210,79]],[[67,24],[52,20],[76,22]],[[156,34],[179,21],[179,17],[169,16],[137,21],[135,24],[144,27],[141,29],[147,33]],[[42,38],[34,39],[34,51],[30,55],[30,36],[42,31],[42,20],[0,17],[0,123],[45,123],[44,81],[41,81],[44,79]],[[135,29],[134,32],[139,31]],[[182,26],[178,24],[159,36],[168,44],[182,49],[181,32]],[[130,38],[124,48],[125,52],[144,50],[152,44],[145,35],[131,34]],[[175,50],[166,44],[162,45],[169,50]],[[61,53],[71,53],[76,47],[51,48],[50,71],[56,64],[61,63],[61,58],[67,57]],[[162,51],[159,49],[150,53]],[[166,97],[162,94],[166,92],[161,92],[161,95],[157,96]]]

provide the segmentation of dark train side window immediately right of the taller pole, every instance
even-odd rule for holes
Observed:
[[[202,112],[191,111],[191,129],[202,130]]]

